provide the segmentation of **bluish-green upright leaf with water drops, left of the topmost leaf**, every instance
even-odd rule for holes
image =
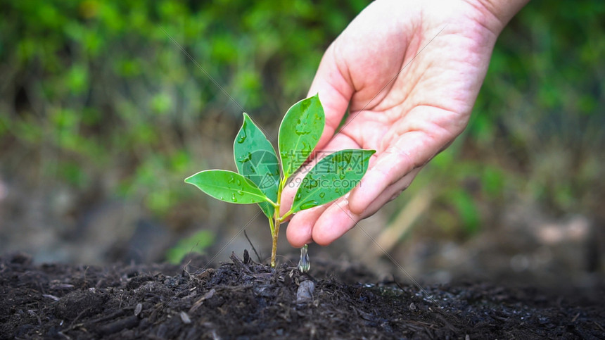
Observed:
[[[243,114],[243,124],[233,144],[233,153],[238,172],[276,202],[279,162],[275,149],[246,113]],[[260,202],[258,206],[267,218],[273,217],[275,210],[271,203]]]

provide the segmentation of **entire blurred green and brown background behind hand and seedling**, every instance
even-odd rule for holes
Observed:
[[[0,251],[149,262],[191,235],[210,254],[249,248],[238,232],[255,207],[183,183],[234,169],[241,125],[196,63],[276,132],[367,3],[0,1]],[[365,228],[429,281],[604,272],[604,56],[603,1],[532,1],[497,42],[469,128]],[[268,255],[266,221],[246,230]],[[383,261],[367,244],[351,232],[317,251]]]

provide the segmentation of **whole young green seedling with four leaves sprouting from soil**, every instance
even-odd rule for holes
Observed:
[[[319,96],[295,103],[288,109],[279,126],[278,158],[265,134],[243,113],[243,124],[234,141],[238,172],[204,170],[185,180],[221,201],[257,203],[269,219],[273,240],[272,267],[275,267],[281,223],[301,210],[321,206],[347,194],[362,179],[370,156],[376,152],[362,149],[340,150],[321,158],[303,180],[291,180],[297,170],[307,166],[305,162],[317,146],[325,122]],[[290,210],[279,215],[281,192],[286,185],[298,186],[298,189]]]

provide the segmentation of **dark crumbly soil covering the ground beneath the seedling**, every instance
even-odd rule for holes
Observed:
[[[232,263],[82,267],[0,258],[1,339],[603,339],[603,289],[376,282],[355,265]],[[197,266],[197,267],[196,267]],[[359,283],[362,282],[362,283]],[[585,296],[586,295],[582,295]]]

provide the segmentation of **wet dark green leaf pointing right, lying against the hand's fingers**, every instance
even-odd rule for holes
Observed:
[[[376,151],[349,149],[319,160],[300,182],[292,203],[292,213],[321,206],[353,189],[368,170],[370,156]]]

